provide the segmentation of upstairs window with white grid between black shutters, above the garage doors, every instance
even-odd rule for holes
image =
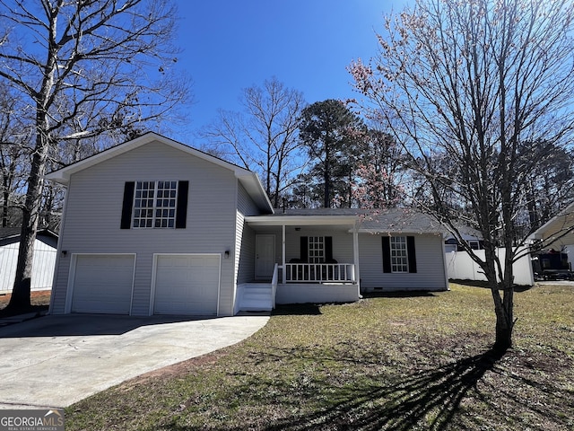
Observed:
[[[174,228],[178,181],[137,181],[134,194],[135,228]]]

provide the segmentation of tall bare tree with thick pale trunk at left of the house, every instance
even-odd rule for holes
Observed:
[[[30,304],[42,178],[55,146],[151,124],[186,100],[187,82],[171,73],[175,16],[170,0],[0,0],[0,80],[33,125],[10,307]]]

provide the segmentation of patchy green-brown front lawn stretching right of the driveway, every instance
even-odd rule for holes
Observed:
[[[66,430],[574,428],[574,288],[516,294],[515,346],[490,291],[280,307],[236,346],[66,409]]]

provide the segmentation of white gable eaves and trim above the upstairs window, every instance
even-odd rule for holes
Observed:
[[[259,207],[265,213],[273,212],[271,202],[269,201],[269,198],[265,193],[265,189],[263,189],[261,181],[258,179],[255,172],[248,171],[247,169],[241,168],[236,164],[226,162],[211,154],[204,153],[197,150],[196,148],[181,144],[178,141],[174,141],[173,139],[158,135],[153,132],[148,132],[142,136],[136,137],[131,141],[112,146],[98,154],[93,154],[90,157],[86,157],[79,162],[72,163],[68,166],[65,166],[64,168],[58,169],[57,171],[50,172],[46,175],[46,179],[67,186],[70,177],[74,173],[81,172],[90,168],[91,166],[105,162],[109,159],[112,159],[113,157],[117,157],[120,154],[125,154],[129,151],[139,148],[140,146],[147,145],[152,142],[159,142],[162,145],[168,145],[186,154],[193,155],[206,162],[213,163],[221,166],[222,168],[230,170],[234,173],[235,177],[239,180],[243,187],[248,191],[249,196],[256,202],[257,207]]]

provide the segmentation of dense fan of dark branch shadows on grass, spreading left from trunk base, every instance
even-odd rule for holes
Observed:
[[[446,429],[466,393],[501,356],[490,350],[392,382],[341,388],[340,402],[331,407],[284,418],[262,429]]]

